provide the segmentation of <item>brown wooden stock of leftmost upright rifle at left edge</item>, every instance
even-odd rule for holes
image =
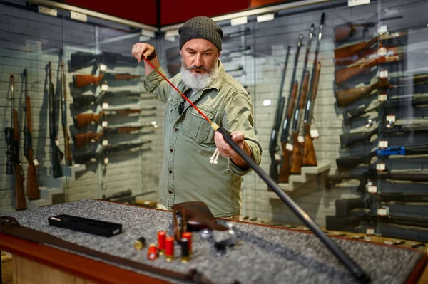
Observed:
[[[19,123],[18,111],[14,109],[14,144],[15,144],[15,210],[21,211],[26,209],[26,200],[24,195],[24,172],[22,164],[19,162]]]

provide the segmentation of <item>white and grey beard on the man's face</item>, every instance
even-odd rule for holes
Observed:
[[[207,88],[211,85],[215,79],[218,78],[220,74],[220,69],[218,68],[218,61],[214,61],[213,67],[210,69],[202,68],[203,70],[207,70],[205,73],[193,73],[191,70],[198,69],[195,67],[188,68],[183,58],[181,58],[181,78],[183,83],[187,85],[189,88],[192,88],[194,91],[202,90],[203,88]]]

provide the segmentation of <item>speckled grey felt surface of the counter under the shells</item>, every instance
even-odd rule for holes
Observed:
[[[105,238],[49,226],[48,217],[58,214],[121,223],[123,233]],[[193,255],[188,263],[183,264],[179,258],[167,263],[161,256],[149,261],[146,258],[147,247],[142,251],[133,248],[134,241],[141,236],[146,238],[148,244],[156,243],[156,232],[162,229],[168,231],[172,220],[169,211],[86,199],[15,212],[9,216],[14,216],[22,226],[103,253],[181,273],[195,268],[213,283],[355,283],[347,269],[311,233],[232,222],[238,243],[228,253],[215,256],[210,242],[200,240],[198,233],[193,233]],[[219,223],[225,224],[226,221]],[[370,275],[372,283],[404,283],[424,257],[419,251],[405,248],[333,239]],[[175,254],[180,256],[178,246],[175,247]]]

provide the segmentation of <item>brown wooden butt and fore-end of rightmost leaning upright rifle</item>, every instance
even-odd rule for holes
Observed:
[[[312,76],[315,76],[312,85],[312,93],[310,94],[310,100],[312,102],[315,101],[317,97],[318,83],[320,82],[320,73],[321,73],[321,63],[317,63],[317,67],[315,69],[315,73]],[[311,114],[312,115],[312,114]],[[305,144],[303,144],[303,159],[302,165],[306,166],[317,166],[317,156],[315,154],[314,142],[313,138],[310,135],[310,120],[305,123],[304,131],[305,131]]]

